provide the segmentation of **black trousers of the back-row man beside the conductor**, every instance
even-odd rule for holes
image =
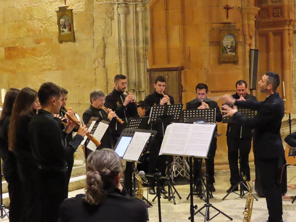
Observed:
[[[227,136],[226,140],[231,186],[235,186],[242,180],[241,172],[243,172],[247,177],[247,180],[250,181],[249,154],[251,151],[252,138],[235,138]],[[240,168],[238,166],[238,159]]]

